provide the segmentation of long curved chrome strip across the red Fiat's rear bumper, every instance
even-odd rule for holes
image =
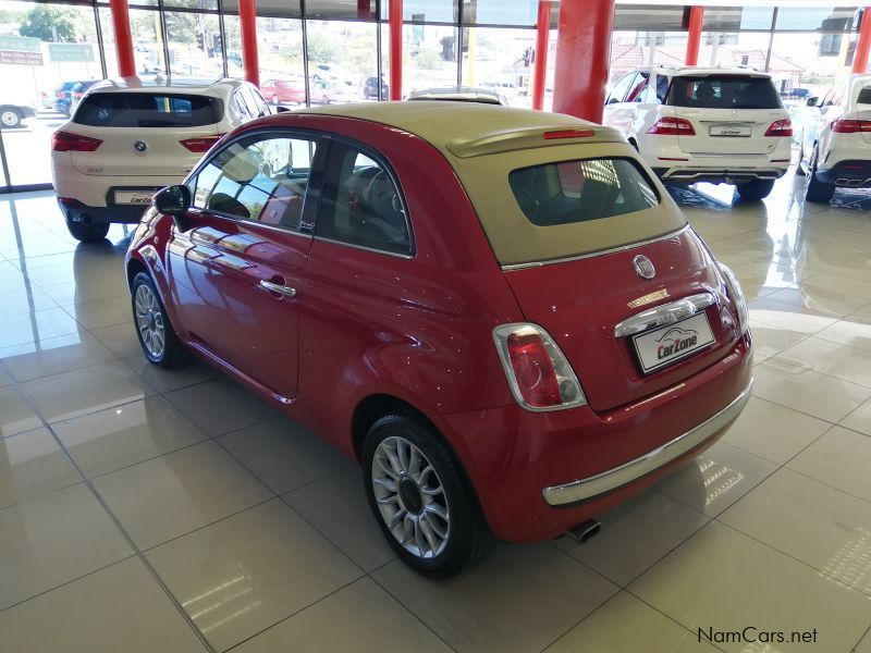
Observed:
[[[544,490],[541,491],[544,501],[552,506],[578,503],[627,485],[652,471],[657,471],[660,467],[667,465],[675,458],[679,458],[687,452],[696,448],[706,440],[712,438],[728,426],[732,420],[740,415],[745,404],[747,404],[750,398],[752,386],[753,381],[751,379],[747,387],[720,412],[707,419],[691,431],[678,435],[671,442],[666,442],[662,446],[654,448],[652,452],[635,460],[629,460],[619,467],[614,467],[613,469],[609,469],[593,477],[579,479],[562,485],[544,488]]]

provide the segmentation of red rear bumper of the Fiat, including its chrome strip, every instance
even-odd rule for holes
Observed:
[[[602,515],[713,444],[744,407],[751,377],[748,334],[682,383],[604,412],[514,405],[441,416],[440,426],[493,531],[512,542],[544,540]]]

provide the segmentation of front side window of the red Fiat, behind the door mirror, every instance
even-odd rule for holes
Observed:
[[[315,147],[283,136],[234,143],[197,175],[194,206],[296,231]]]

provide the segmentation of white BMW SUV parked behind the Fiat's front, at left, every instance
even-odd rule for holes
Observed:
[[[238,79],[96,84],[51,141],[51,176],[70,233],[99,241],[112,222],[138,222],[155,192],[184,178],[221,136],[269,113],[260,91]]]

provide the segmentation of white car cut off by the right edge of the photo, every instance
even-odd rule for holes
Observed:
[[[805,199],[827,202],[835,188],[871,187],[871,75],[849,75],[821,102],[808,100],[799,174]]]

